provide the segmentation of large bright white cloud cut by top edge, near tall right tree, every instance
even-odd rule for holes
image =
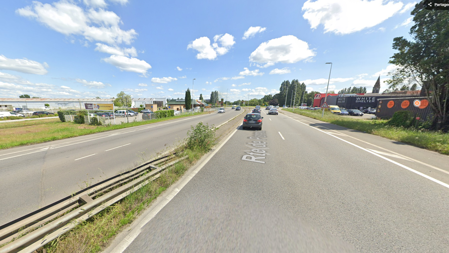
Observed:
[[[308,0],[302,10],[311,28],[320,24],[324,32],[344,35],[374,27],[403,7],[402,2],[385,0]]]

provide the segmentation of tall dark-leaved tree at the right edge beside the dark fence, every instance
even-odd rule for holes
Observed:
[[[393,39],[393,49],[398,52],[389,63],[397,68],[389,73],[388,89],[407,82],[421,85],[421,94],[427,96],[433,111],[430,129],[449,132],[449,12],[427,10],[423,4],[416,4],[411,14],[412,39]]]

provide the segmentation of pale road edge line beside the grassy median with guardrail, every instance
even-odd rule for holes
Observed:
[[[163,209],[163,207],[165,205],[168,204],[168,202],[170,202],[170,200],[173,199],[174,196],[176,196],[176,194],[178,194],[178,192],[190,181],[190,179],[192,179],[196,173],[198,173],[202,167],[204,167],[204,165],[207,164],[207,162],[209,160],[211,160],[211,158],[221,149],[222,146],[224,146],[226,144],[226,142],[229,141],[229,139],[234,135],[235,132],[237,132],[238,129],[235,129],[233,133],[231,133],[231,135],[229,135],[228,138],[226,138],[226,140],[220,144],[220,146],[218,146],[216,148],[215,151],[213,151],[207,158],[206,160],[204,160],[197,169],[195,169],[192,173],[190,173],[189,176],[187,176],[187,178],[185,178],[185,180],[180,183],[180,185],[175,188],[165,199],[163,199],[155,208],[153,211],[151,211],[149,213],[149,215],[147,217],[145,217],[145,219],[143,219],[138,225],[137,227],[129,233],[129,235],[127,235],[125,237],[125,239],[123,239],[123,241],[120,242],[119,245],[117,245],[112,251],[111,253],[123,253],[123,251],[128,248],[129,244],[132,243],[132,241],[134,241],[134,239],[136,239],[137,235],[140,234],[142,227],[145,226],[146,223],[148,223],[154,216],[156,216],[156,214],[159,213],[159,211],[161,209]]]

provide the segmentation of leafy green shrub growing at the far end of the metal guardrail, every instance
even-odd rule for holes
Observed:
[[[202,122],[195,126],[190,126],[187,131],[186,147],[191,150],[200,149],[202,151],[210,150],[216,144],[214,125],[202,124]]]

